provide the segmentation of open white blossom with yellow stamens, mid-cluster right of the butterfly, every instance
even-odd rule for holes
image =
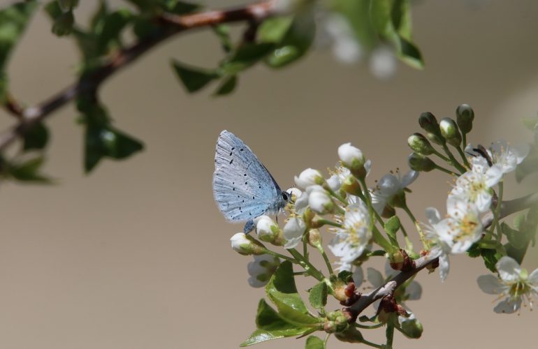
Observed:
[[[340,257],[340,262],[351,263],[363,254],[371,239],[368,207],[359,201],[346,207],[342,228],[336,230],[328,247],[335,256]]]

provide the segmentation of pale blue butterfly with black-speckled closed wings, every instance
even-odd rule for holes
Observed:
[[[243,228],[247,233],[254,229],[254,218],[278,214],[291,195],[280,190],[247,144],[225,130],[217,140],[213,196],[224,218],[247,222]]]

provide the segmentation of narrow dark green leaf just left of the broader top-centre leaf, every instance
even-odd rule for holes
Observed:
[[[272,43],[246,43],[240,45],[228,59],[221,64],[221,70],[230,75],[240,73],[266,57],[275,47]]]

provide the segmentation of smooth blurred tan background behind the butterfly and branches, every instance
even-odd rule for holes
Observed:
[[[240,135],[282,187],[304,168],[333,166],[337,146],[348,141],[372,158],[371,181],[405,168],[405,140],[418,131],[419,113],[452,116],[463,102],[480,125],[472,142],[517,140],[518,119],[538,110],[538,2],[478,2],[419,1],[414,27],[426,70],[400,65],[390,82],[317,52],[285,70],[249,71],[231,97],[187,96],[169,58],[210,65],[219,47],[207,33],[173,38],[102,91],[117,125],[145,140],[146,151],[103,162],[89,176],[74,108],[55,114],[47,170],[59,185],[0,188],[0,348],[238,346],[254,329],[263,291],[247,285],[250,258],[229,246],[240,226],[226,223],[212,200],[219,131]],[[80,17],[93,8],[84,3]],[[49,31],[41,13],[10,65],[14,93],[28,103],[73,79],[73,45]],[[443,209],[446,181],[426,174],[412,186],[417,216],[430,205]],[[444,284],[437,273],[419,276],[423,299],[409,306],[425,332],[419,341],[397,334],[398,348],[533,346],[535,313],[496,315],[493,297],[476,284],[486,272],[481,261],[452,261]],[[536,251],[527,265],[537,265]],[[366,335],[381,342],[382,330]],[[284,339],[259,348],[303,346]]]

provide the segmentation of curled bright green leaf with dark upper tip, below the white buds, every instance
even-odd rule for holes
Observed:
[[[307,327],[319,323],[310,315],[300,298],[293,278],[291,262],[282,262],[266,285],[269,299],[277,306],[279,316],[297,326]]]

